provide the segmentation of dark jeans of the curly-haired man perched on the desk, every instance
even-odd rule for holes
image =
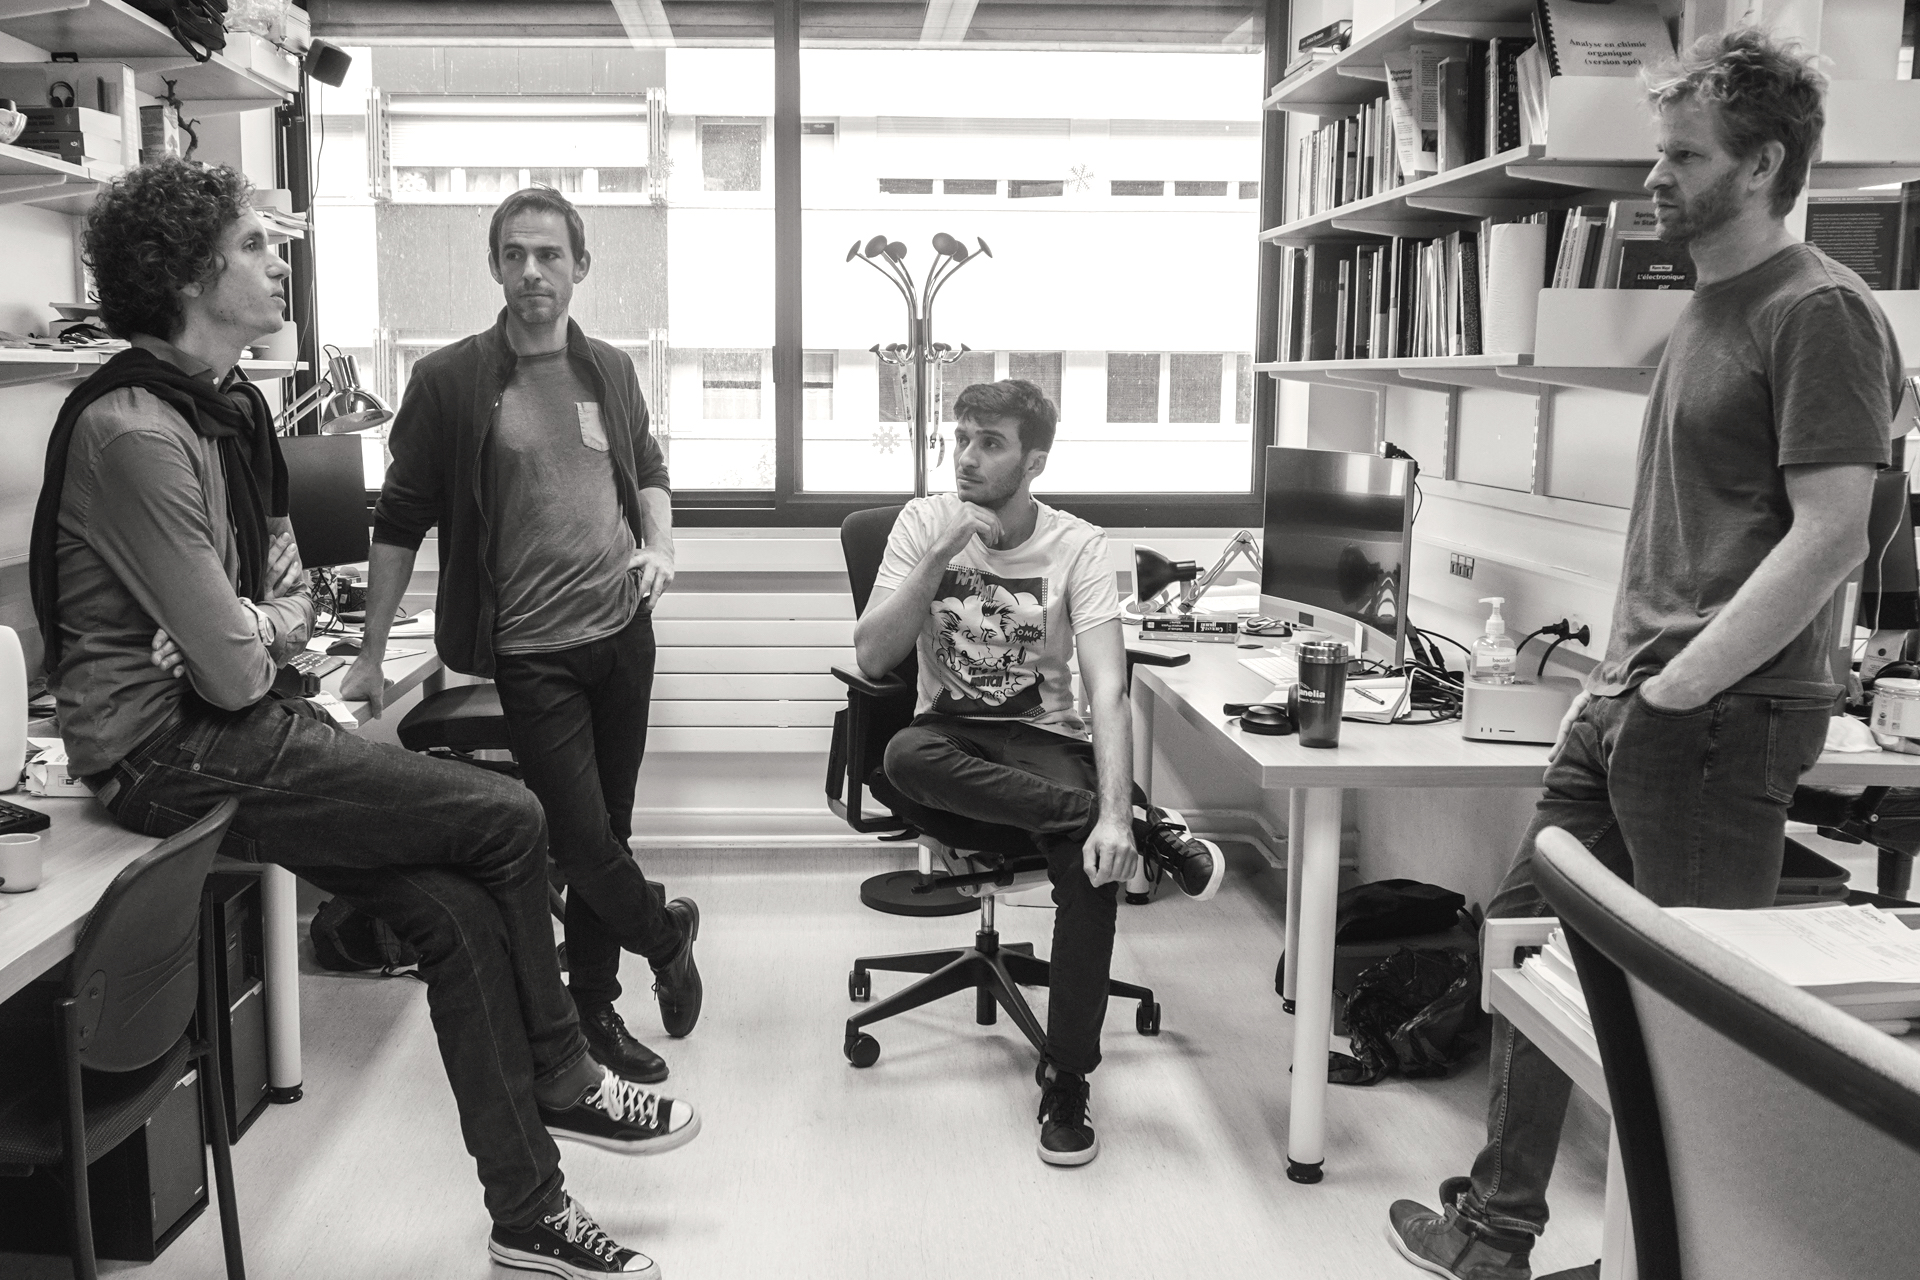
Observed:
[[[221,852],[275,862],[392,925],[420,954],[488,1213],[520,1222],[561,1190],[534,1084],[566,1075],[588,1046],[553,960],[547,841],[524,787],[361,741],[307,702],[223,712],[198,699],[180,725],[88,781],[146,835],[236,796]]]

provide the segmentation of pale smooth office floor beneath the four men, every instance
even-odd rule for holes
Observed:
[[[622,1009],[674,1067],[668,1092],[705,1130],[655,1159],[563,1146],[568,1186],[672,1280],[1375,1280],[1419,1272],[1382,1238],[1396,1197],[1432,1199],[1478,1146],[1484,1059],[1453,1079],[1334,1088],[1327,1180],[1284,1176],[1290,1019],[1273,994],[1284,873],[1231,850],[1219,898],[1123,908],[1114,973],[1156,988],[1164,1032],[1108,1017],[1094,1075],[1100,1157],[1079,1171],[1033,1153],[1033,1057],[1006,1019],[977,1027],[964,996],[877,1029],[876,1067],[841,1057],[849,960],[960,944],[970,917],[866,912],[874,854],[687,852],[649,858],[701,902],[707,1009],[659,1034],[643,969]],[[1050,912],[1000,912],[1008,940],[1046,952]],[[876,994],[906,979],[876,975]],[[234,1150],[255,1278],[493,1276],[480,1188],[461,1148],[426,1019],[405,979],[311,973],[305,1100],[269,1107]],[[1037,1006],[1044,992],[1035,992]],[[1576,1100],[1536,1274],[1599,1251],[1605,1128]],[[140,1280],[221,1274],[215,1213]],[[0,1255],[10,1280],[63,1261]]]

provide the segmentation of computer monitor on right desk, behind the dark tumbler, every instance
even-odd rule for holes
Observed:
[[[1411,459],[1267,449],[1260,612],[1400,666],[1415,472]]]

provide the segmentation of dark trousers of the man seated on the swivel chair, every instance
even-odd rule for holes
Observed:
[[[1046,1061],[1098,1067],[1119,885],[1094,889],[1081,865],[1100,808],[1092,747],[1020,722],[920,716],[887,743],[885,768],[916,804],[1033,833],[1056,908]]]

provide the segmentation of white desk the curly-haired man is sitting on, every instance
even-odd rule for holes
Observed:
[[[394,687],[388,700],[399,700],[426,681],[440,681],[442,666],[432,637],[396,639],[396,647],[422,649],[420,654],[388,662]],[[346,668],[323,683],[340,691]],[[372,720],[365,702],[349,702],[355,720]],[[8,800],[35,808],[54,819],[40,835],[46,871],[40,889],[0,894],[0,1000],[73,954],[86,913],[127,864],[159,841],[119,827],[90,798],[40,798],[25,793]],[[261,864],[261,917],[267,986],[267,1082],[275,1102],[300,1098],[300,919],[294,908],[294,873]]]

